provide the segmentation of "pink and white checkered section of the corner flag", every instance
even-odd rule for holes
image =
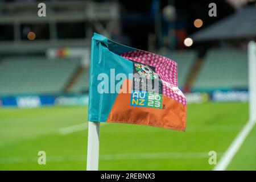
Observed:
[[[142,50],[122,53],[121,56],[125,59],[155,67],[156,73],[163,81],[163,94],[183,105],[187,105],[185,96],[177,88],[177,63],[175,61]]]

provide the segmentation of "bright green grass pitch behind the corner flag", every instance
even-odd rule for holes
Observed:
[[[0,170],[85,170],[87,107],[0,109]],[[247,122],[246,103],[188,105],[187,131],[107,123],[100,129],[101,170],[211,170]],[[84,125],[80,125],[84,123]],[[71,132],[63,134],[64,128]],[[256,129],[228,169],[256,170]],[[46,165],[38,164],[46,151]]]

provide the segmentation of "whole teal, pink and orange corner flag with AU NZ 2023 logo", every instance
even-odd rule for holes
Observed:
[[[187,101],[177,87],[177,63],[94,34],[88,117],[185,131]]]

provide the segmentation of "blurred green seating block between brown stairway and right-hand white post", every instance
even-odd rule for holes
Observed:
[[[247,54],[236,49],[211,49],[192,91],[247,88]]]

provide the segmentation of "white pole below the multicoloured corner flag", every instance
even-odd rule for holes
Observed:
[[[100,122],[88,122],[87,171],[98,171]]]

